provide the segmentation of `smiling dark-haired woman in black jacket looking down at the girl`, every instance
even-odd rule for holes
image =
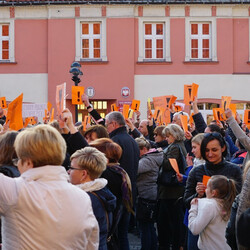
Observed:
[[[201,142],[201,156],[205,160],[205,164],[190,171],[184,193],[184,202],[188,209],[192,199],[206,197],[206,186],[202,182],[205,175],[224,175],[234,179],[237,192],[240,192],[242,186],[241,169],[236,164],[226,161],[224,159],[226,154],[227,145],[221,134],[217,132],[204,134],[204,139]]]

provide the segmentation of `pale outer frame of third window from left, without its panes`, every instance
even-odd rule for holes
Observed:
[[[162,23],[163,24],[163,58],[145,58],[145,24],[146,23]],[[171,62],[170,57],[170,19],[169,17],[142,17],[139,18],[139,56],[138,56],[138,62],[148,62],[148,61],[165,61],[165,62]],[[159,36],[159,35],[157,35]],[[153,44],[152,44],[153,48]],[[153,51],[152,51],[153,52]]]

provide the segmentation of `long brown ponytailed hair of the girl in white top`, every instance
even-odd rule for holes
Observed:
[[[236,196],[235,182],[224,175],[213,175],[209,180],[211,190],[216,190],[216,196],[221,207],[221,218],[227,221],[231,214],[231,207]]]

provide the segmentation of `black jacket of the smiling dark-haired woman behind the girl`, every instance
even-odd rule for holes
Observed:
[[[205,165],[207,171],[205,170]],[[216,165],[206,161],[205,165],[195,167],[189,173],[184,194],[184,202],[187,208],[190,207],[191,200],[197,197],[196,185],[197,182],[202,182],[203,175],[224,175],[227,178],[235,180],[237,193],[239,193],[241,190],[242,172],[240,167],[238,167],[236,164],[223,160],[222,162]]]

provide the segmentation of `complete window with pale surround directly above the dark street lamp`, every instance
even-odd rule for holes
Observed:
[[[107,61],[106,20],[76,21],[76,61]]]

